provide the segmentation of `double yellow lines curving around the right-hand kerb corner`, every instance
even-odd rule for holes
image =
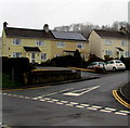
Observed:
[[[114,98],[121,103],[122,105],[125,105],[126,107],[130,108],[130,104],[127,103],[126,101],[123,101],[118,94],[117,94],[117,90],[113,90],[113,95]]]

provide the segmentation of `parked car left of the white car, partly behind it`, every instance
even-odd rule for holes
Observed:
[[[92,62],[90,65],[87,66],[88,69],[99,69],[104,68],[104,62]]]

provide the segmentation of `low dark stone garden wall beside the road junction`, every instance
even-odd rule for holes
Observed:
[[[25,85],[49,84],[81,78],[79,71],[44,71],[34,69],[24,75]]]

